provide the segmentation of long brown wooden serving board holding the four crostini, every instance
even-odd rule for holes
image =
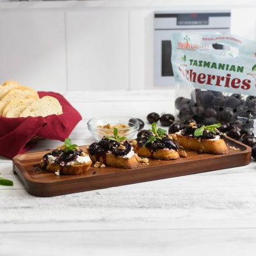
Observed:
[[[106,168],[89,169],[83,175],[62,175],[45,172],[37,164],[49,150],[20,154],[13,158],[13,172],[17,173],[29,194],[34,196],[57,196],[93,189],[110,188],[166,179],[182,175],[209,172],[235,166],[243,166],[251,161],[251,148],[231,138],[226,138],[228,154],[198,154],[186,151],[188,157],[162,161],[150,159],[149,164],[140,164],[136,169]],[[85,146],[82,146],[83,148]]]

